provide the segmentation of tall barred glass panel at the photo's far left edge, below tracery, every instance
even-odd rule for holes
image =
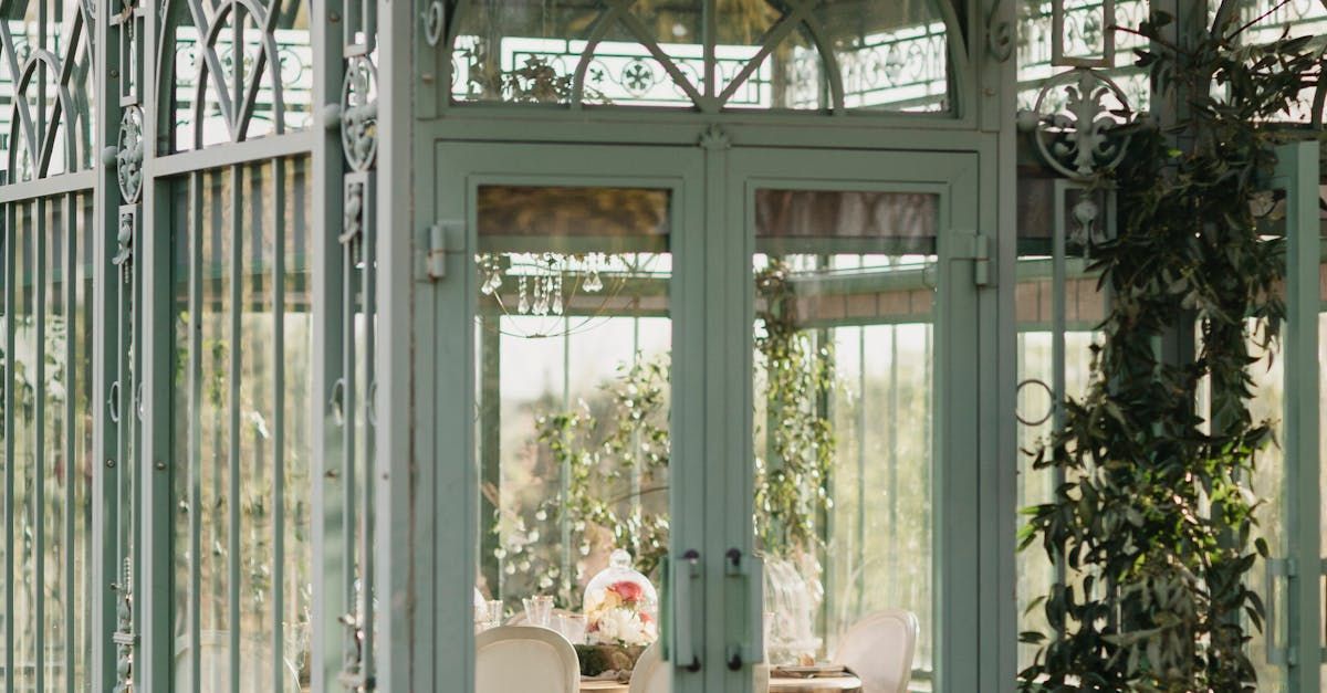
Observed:
[[[90,685],[90,204],[72,193],[4,210],[0,516],[13,534],[0,536],[0,564],[12,559],[13,574],[0,575],[0,596],[13,609],[0,639],[11,633],[15,651],[7,661],[0,649],[0,681],[17,688]]]

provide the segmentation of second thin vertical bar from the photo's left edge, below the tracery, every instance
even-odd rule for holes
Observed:
[[[45,8],[45,3],[41,4]],[[45,24],[42,24],[45,28]],[[45,36],[45,31],[42,31]],[[42,82],[45,84],[45,82]],[[37,271],[37,276],[33,280],[33,288],[36,289],[36,299],[32,304],[32,315],[37,324],[37,344],[36,344],[36,357],[33,372],[36,373],[36,382],[33,382],[33,389],[36,390],[37,402],[37,427],[33,435],[33,454],[32,454],[32,514],[33,514],[33,532],[36,534],[33,539],[33,575],[35,575],[35,589],[33,599],[36,600],[36,633],[35,641],[36,647],[33,651],[33,665],[36,666],[35,677],[36,690],[46,690],[46,666],[45,666],[45,653],[46,653],[46,280],[49,279],[49,270],[46,267],[46,256],[50,254],[46,232],[50,230],[50,224],[46,223],[46,200],[42,198],[36,199],[36,210],[33,211],[33,222],[36,223],[36,247],[37,252],[33,258],[33,267]]]

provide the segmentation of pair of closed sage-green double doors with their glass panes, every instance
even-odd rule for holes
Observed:
[[[488,621],[445,641],[525,620],[533,595],[591,612],[589,639],[653,636],[594,613],[588,580],[625,548],[667,587],[674,690],[747,690],[766,645],[825,660],[890,607],[920,621],[916,684],[978,689],[975,157],[442,143],[438,161],[453,279],[433,309],[472,325],[435,336],[439,489],[467,489],[439,527],[472,560],[439,562],[437,585]],[[483,681],[523,673],[486,658]]]

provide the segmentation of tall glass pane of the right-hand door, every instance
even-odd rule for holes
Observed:
[[[872,616],[897,611],[920,623],[913,661],[898,665],[929,681],[938,199],[759,190],[755,208],[755,528],[770,662],[852,666]]]

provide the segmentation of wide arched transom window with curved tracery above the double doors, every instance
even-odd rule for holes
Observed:
[[[460,0],[455,102],[950,112],[950,0]]]

